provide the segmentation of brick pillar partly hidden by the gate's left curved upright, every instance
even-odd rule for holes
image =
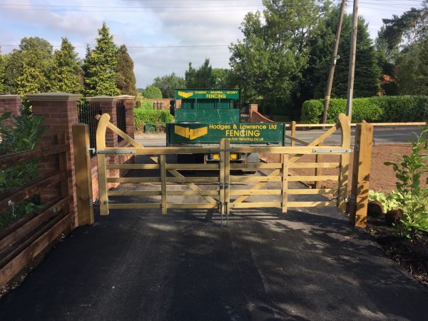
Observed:
[[[116,103],[118,98],[116,96],[95,96],[86,98],[91,103],[99,103],[102,113],[108,113],[110,115],[110,122],[113,125],[117,125],[117,116],[116,116]],[[118,134],[113,133],[113,131],[107,128],[106,131],[106,146],[107,147],[116,147],[118,146]],[[107,158],[108,164],[118,164],[118,158],[116,156],[111,156]],[[119,177],[119,170],[108,170],[108,177]],[[109,188],[116,188],[118,183],[108,183]]]

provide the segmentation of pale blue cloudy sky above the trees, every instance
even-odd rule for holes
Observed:
[[[374,39],[382,18],[421,2],[360,0],[359,14]],[[137,87],[145,88],[157,76],[184,76],[189,61],[198,67],[210,58],[213,68],[228,68],[228,46],[242,39],[245,14],[257,10],[263,10],[262,0],[0,0],[0,48],[8,53],[23,37],[39,36],[58,49],[67,37],[83,58],[106,21],[114,42],[128,47]]]

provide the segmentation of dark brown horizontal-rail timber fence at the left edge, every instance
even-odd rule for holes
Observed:
[[[14,168],[24,170],[26,165],[34,173],[45,161],[56,164],[56,170],[34,174],[28,183],[0,194],[0,286],[6,285],[36,255],[73,228],[69,143],[65,135],[57,138],[57,143],[51,146],[0,156],[0,170],[5,174]],[[52,188],[58,191],[56,195]]]

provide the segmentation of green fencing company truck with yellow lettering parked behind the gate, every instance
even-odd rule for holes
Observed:
[[[181,100],[180,108],[178,100]],[[167,146],[215,146],[228,138],[230,146],[283,146],[282,123],[248,123],[241,121],[238,89],[176,89],[171,113],[175,123],[166,124]],[[218,154],[183,156],[183,163],[218,161]],[[258,162],[258,154],[230,153],[230,161]]]

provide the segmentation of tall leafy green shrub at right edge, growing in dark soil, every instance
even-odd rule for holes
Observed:
[[[424,147],[426,133],[428,128],[417,135],[416,141],[411,142],[412,153],[402,155],[402,161],[384,163],[392,165],[398,179],[394,200],[397,200],[404,215],[394,226],[397,233],[406,238],[428,233],[428,182],[421,182],[422,175],[428,173],[427,148]]]

